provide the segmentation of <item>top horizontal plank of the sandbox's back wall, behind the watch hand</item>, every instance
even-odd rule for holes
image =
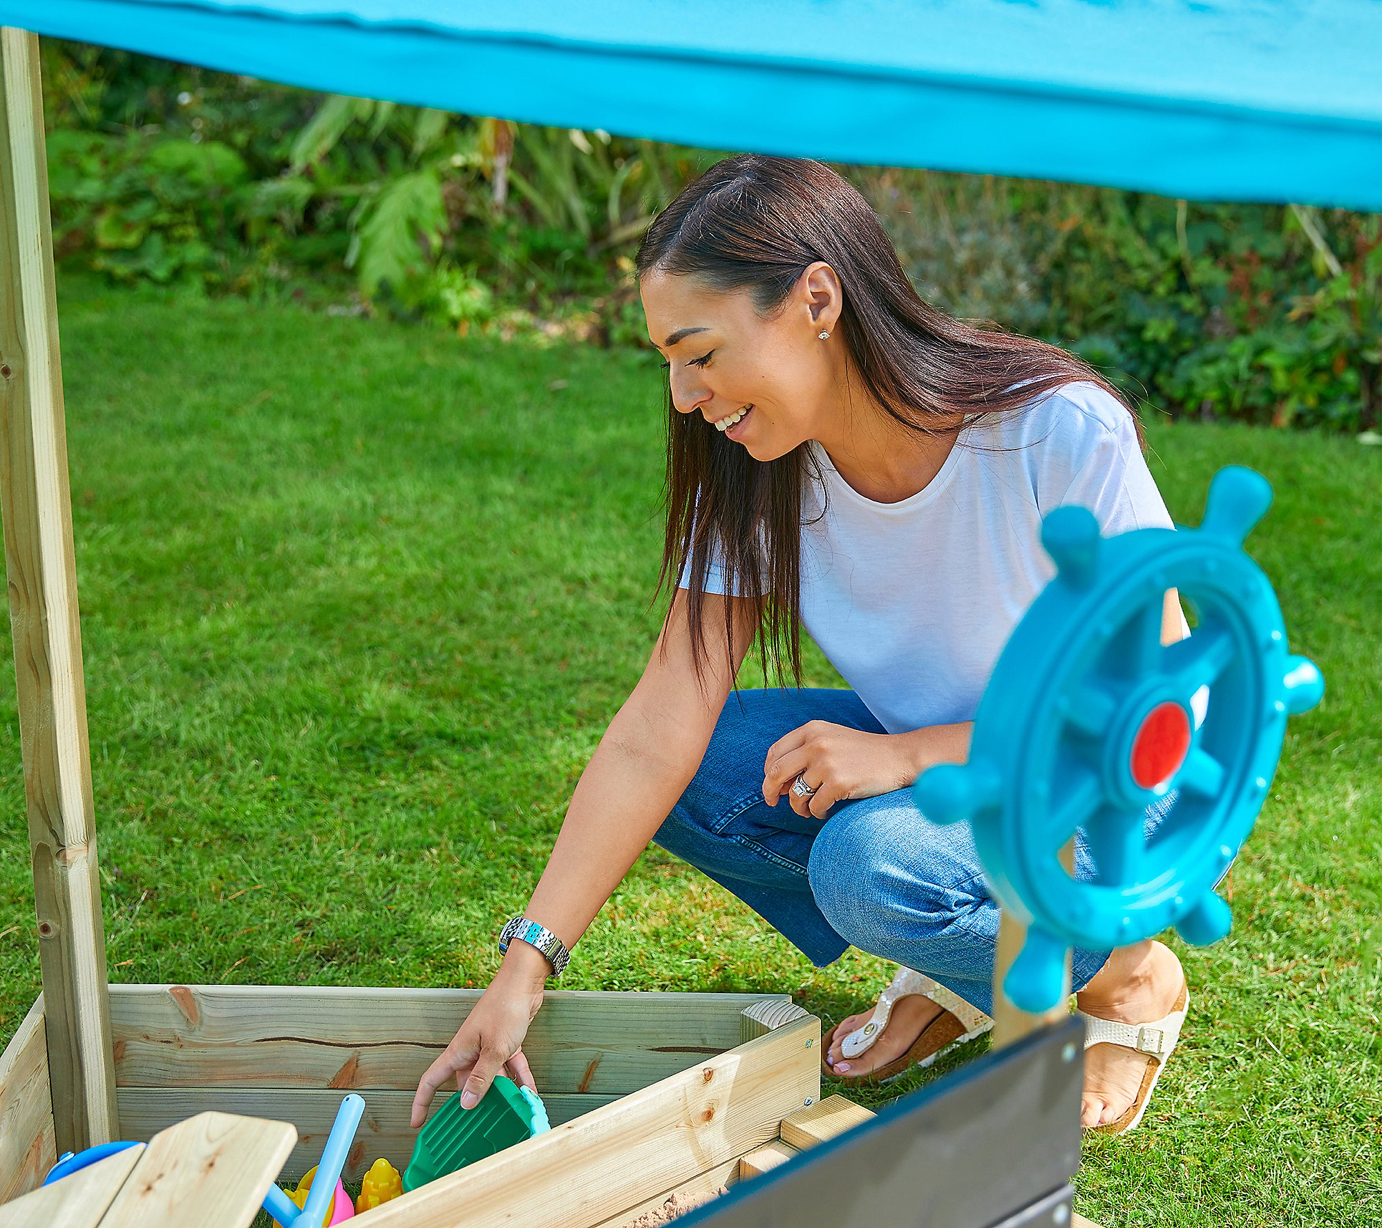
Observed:
[[[416,1091],[478,989],[112,985],[120,1087]],[[549,990],[524,1053],[538,1087],[626,1094],[741,1040],[786,995]],[[799,1011],[799,1007],[792,1007]]]

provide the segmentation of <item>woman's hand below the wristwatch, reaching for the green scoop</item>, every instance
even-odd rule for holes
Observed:
[[[427,1108],[437,1088],[452,1076],[460,1093],[460,1105],[466,1109],[480,1104],[495,1075],[507,1075],[521,1087],[538,1090],[528,1058],[522,1054],[522,1042],[542,1006],[542,988],[550,971],[551,966],[542,952],[524,942],[513,943],[455,1039],[417,1084],[410,1122],[415,1130],[427,1120]]]

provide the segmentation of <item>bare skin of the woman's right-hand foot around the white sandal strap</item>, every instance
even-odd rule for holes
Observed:
[[[1176,953],[1148,939],[1108,956],[1095,978],[1075,995],[1075,1001],[1096,1019],[1150,1024],[1176,1008],[1184,984],[1186,974]],[[1086,1048],[1081,1124],[1092,1127],[1117,1122],[1137,1098],[1150,1061],[1146,1054],[1121,1044],[1092,1044]]]

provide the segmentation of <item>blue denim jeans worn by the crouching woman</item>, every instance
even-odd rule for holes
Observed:
[[[886,733],[853,691],[731,692],[705,758],[654,843],[732,891],[817,967],[851,945],[916,968],[992,1014],[998,905],[966,823],[938,826],[912,790],[839,801],[803,818],[786,797],[763,800],[763,760],[811,720]],[[1150,834],[1172,796],[1147,811]],[[1083,836],[1075,877],[1093,870]],[[1108,952],[1075,949],[1082,989]]]

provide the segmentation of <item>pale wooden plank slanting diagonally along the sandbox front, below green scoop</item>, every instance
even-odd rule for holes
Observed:
[[[768,1142],[820,1097],[821,1021],[775,1028],[357,1217],[359,1228],[591,1228]]]

